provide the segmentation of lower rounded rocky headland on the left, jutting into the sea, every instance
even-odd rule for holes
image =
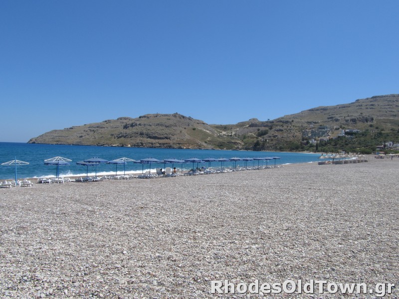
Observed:
[[[175,114],[120,117],[101,123],[53,130],[28,143],[115,147],[212,149],[234,148],[240,141],[223,137],[200,120]]]

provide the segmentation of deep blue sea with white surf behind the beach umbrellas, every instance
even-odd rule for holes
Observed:
[[[265,157],[278,156],[277,164],[303,163],[317,161],[319,154],[311,153],[292,153],[292,152],[265,152],[265,151],[241,151],[241,150],[215,150],[215,149],[148,149],[148,148],[114,148],[114,147],[95,147],[95,146],[66,146],[66,145],[39,145],[25,143],[0,143],[0,163],[14,160],[29,162],[28,165],[17,166],[18,178],[24,177],[54,177],[56,175],[56,166],[44,165],[44,160],[55,156],[62,156],[72,160],[70,165],[60,166],[61,176],[86,175],[86,166],[77,165],[77,161],[91,157],[100,157],[106,160],[113,160],[121,157],[128,157],[139,160],[148,157],[159,160],[168,158],[188,159],[197,157],[204,158],[231,158],[231,157]],[[237,165],[243,166],[244,161],[237,161]],[[249,161],[248,166],[257,165],[257,161]],[[261,164],[266,164],[261,161]],[[274,165],[274,160],[268,162]],[[227,162],[225,166],[233,166],[233,162]],[[171,167],[166,164],[166,167]],[[175,167],[181,167],[182,164]],[[183,164],[183,169],[192,168],[192,163]],[[197,166],[197,165],[196,165]],[[208,163],[202,163],[200,166],[208,166]],[[212,162],[212,167],[220,166],[220,162]],[[144,170],[149,165],[144,166]],[[151,168],[165,168],[164,164],[151,164]],[[237,166],[238,167],[238,166]],[[115,174],[115,165],[101,163],[97,166],[97,174]],[[126,173],[141,173],[142,164],[128,162],[125,165]],[[94,167],[89,167],[89,175],[94,174]],[[0,165],[0,179],[13,178],[15,167]],[[118,165],[118,173],[123,173],[123,165]]]

